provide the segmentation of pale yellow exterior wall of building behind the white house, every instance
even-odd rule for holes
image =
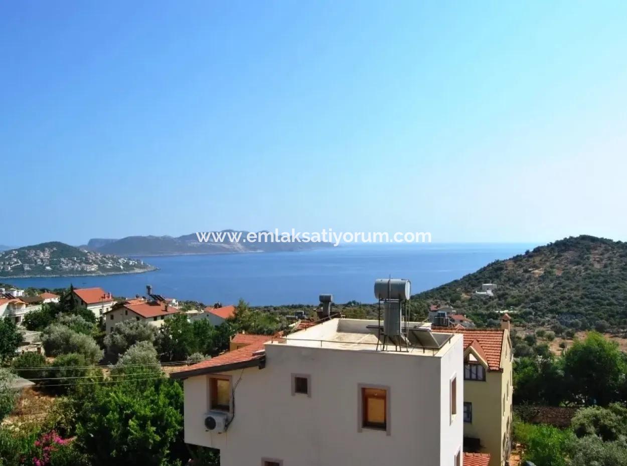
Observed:
[[[511,442],[513,371],[507,330],[503,335],[501,364],[503,371],[486,371],[485,381],[464,381],[464,401],[472,403],[472,423],[464,423],[464,436],[481,440],[481,453],[490,453],[490,466],[505,463]],[[506,437],[505,450],[503,435]]]

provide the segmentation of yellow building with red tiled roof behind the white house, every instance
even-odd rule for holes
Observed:
[[[510,317],[500,329],[446,329],[464,336],[464,451],[490,453],[503,466],[511,450],[512,341]]]

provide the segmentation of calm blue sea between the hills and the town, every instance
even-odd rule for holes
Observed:
[[[159,267],[145,274],[106,277],[6,279],[21,287],[100,286],[115,296],[154,293],[203,303],[317,304],[320,293],[337,303],[374,302],[377,278],[408,278],[412,293],[459,278],[533,244],[345,246],[305,252],[142,257]]]

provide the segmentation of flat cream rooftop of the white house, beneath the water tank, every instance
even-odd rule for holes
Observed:
[[[410,338],[408,344],[397,344],[388,341],[386,348],[382,347],[382,339],[377,338],[379,321],[371,319],[330,319],[306,329],[302,329],[286,336],[283,339],[268,342],[270,344],[287,344],[288,346],[302,346],[305,348],[326,348],[333,350],[350,351],[384,351],[404,355],[436,356],[446,353],[450,348],[449,334],[431,334],[431,324],[423,322],[408,322],[407,326],[421,334],[428,334],[428,340],[436,341],[441,346],[429,347],[421,344],[416,338]],[[381,321],[382,324],[382,321]],[[413,336],[413,333],[411,334]],[[378,348],[377,348],[378,344]]]

